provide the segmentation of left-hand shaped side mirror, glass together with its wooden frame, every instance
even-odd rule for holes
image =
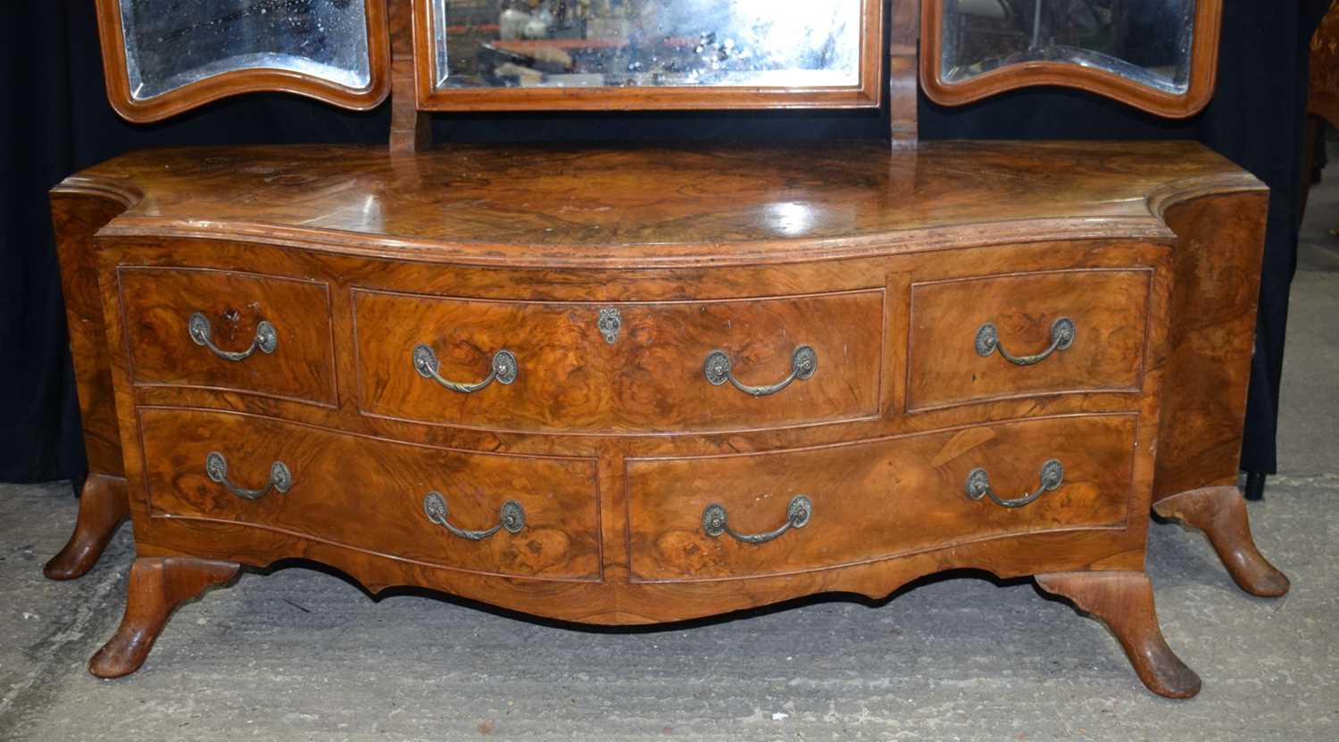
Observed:
[[[108,94],[133,120],[253,90],[384,98],[384,0],[98,0]]]

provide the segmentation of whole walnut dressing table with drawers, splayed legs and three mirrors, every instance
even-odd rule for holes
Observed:
[[[137,547],[95,675],[293,558],[596,624],[1034,576],[1174,698],[1200,679],[1157,624],[1150,508],[1287,591],[1235,489],[1265,189],[1192,143],[916,138],[917,88],[1192,115],[1218,0],[229,5],[99,0],[115,110],[390,95],[391,142],[142,151],[52,191],[92,473],[47,575],[127,516]],[[889,140],[817,147],[427,136],[880,106]]]

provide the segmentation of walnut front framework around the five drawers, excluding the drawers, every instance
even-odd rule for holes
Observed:
[[[952,567],[976,567],[1000,575],[1023,575],[1036,570],[1135,570],[1142,564],[1145,519],[1131,519],[1125,528],[1097,531],[1060,531],[1051,533],[1020,533],[1007,539],[959,543],[931,551],[908,553],[897,559],[818,570],[798,575],[759,576],[749,580],[707,580],[684,583],[683,588],[663,584],[629,582],[627,496],[623,481],[623,461],[628,457],[665,455],[712,455],[724,452],[763,452],[782,447],[811,447],[825,443],[854,443],[868,437],[915,432],[935,432],[969,422],[1007,421],[1019,416],[1074,414],[1074,413],[1137,413],[1138,447],[1130,460],[1130,499],[1127,508],[1144,512],[1148,508],[1148,483],[1152,477],[1152,441],[1157,433],[1157,390],[1162,357],[1154,352],[1164,342],[1166,324],[1166,295],[1170,274],[1166,271],[1168,245],[1146,241],[1074,241],[1066,243],[998,245],[941,250],[931,254],[901,253],[858,261],[782,262],[769,266],[699,266],[678,270],[588,270],[471,267],[458,266],[442,270],[427,261],[368,259],[340,253],[295,250],[283,246],[245,243],[234,239],[193,241],[162,237],[104,235],[100,258],[103,270],[114,274],[126,265],[181,265],[202,263],[217,269],[248,265],[272,274],[301,274],[328,278],[332,282],[332,302],[339,354],[340,378],[351,385],[353,301],[352,289],[375,286],[379,290],[414,293],[466,294],[509,301],[518,291],[526,295],[558,302],[603,299],[635,299],[653,297],[657,301],[680,298],[686,294],[727,301],[730,297],[785,295],[795,289],[809,291],[862,293],[861,286],[884,283],[893,291],[884,302],[886,337],[905,338],[908,333],[909,286],[912,281],[943,281],[953,277],[980,275],[998,270],[1062,270],[1065,267],[1148,266],[1156,269],[1149,302],[1149,333],[1145,356],[1148,381],[1142,394],[1074,394],[1066,398],[1020,398],[1010,401],[960,405],[944,410],[929,410],[902,417],[882,414],[876,420],[844,422],[841,425],[802,426],[778,430],[750,430],[730,435],[687,436],[570,436],[534,433],[469,433],[447,426],[424,426],[408,422],[378,420],[362,414],[356,406],[345,404],[328,410],[313,405],[297,405],[283,400],[256,396],[218,394],[200,389],[131,386],[129,365],[121,358],[114,365],[118,393],[125,394],[127,414],[123,421],[127,468],[135,481],[146,481],[147,465],[154,465],[143,455],[143,441],[138,437],[139,413],[135,405],[167,404],[177,414],[181,405],[204,405],[252,410],[260,416],[281,416],[295,421],[308,421],[329,429],[364,432],[406,441],[432,441],[441,445],[457,441],[475,451],[550,452],[584,455],[600,459],[600,524],[603,537],[603,582],[569,583],[536,580],[521,576],[490,576],[459,570],[435,567],[406,560],[394,553],[371,553],[339,545],[319,536],[295,532],[257,529],[232,521],[198,521],[186,517],[151,517],[147,491],[133,492],[131,505],[137,521],[137,545],[145,556],[193,555],[210,559],[240,560],[245,564],[265,566],[276,559],[303,556],[317,559],[345,570],[374,590],[391,584],[419,584],[445,590],[466,598],[485,600],[516,610],[548,616],[595,623],[644,623],[676,620],[715,612],[761,606],[798,595],[829,590],[856,591],[866,595],[886,595],[915,576]],[[822,246],[810,247],[823,250]],[[116,293],[103,294],[107,312],[115,316],[119,306]],[[640,302],[631,302],[640,303]],[[691,303],[691,299],[690,299]],[[631,341],[633,336],[628,336]],[[653,336],[652,336],[653,337]],[[108,338],[115,348],[126,348],[126,337],[118,324],[108,326]],[[599,342],[603,342],[599,341]],[[900,360],[905,344],[885,342],[884,365],[897,369],[881,398],[884,410],[901,409],[898,378],[905,378]],[[125,350],[122,350],[123,353]],[[355,398],[352,389],[345,400]],[[158,400],[158,402],[153,402]],[[1146,443],[1149,441],[1149,443]],[[1035,464],[1034,464],[1035,465]],[[193,464],[194,467],[194,464]],[[261,472],[264,473],[264,472]],[[198,475],[197,475],[198,476]],[[1027,479],[1035,476],[1028,472]],[[1020,477],[1023,479],[1023,477]],[[254,484],[254,483],[253,483]],[[1012,484],[1012,483],[1011,483]],[[1002,483],[1004,487],[1004,483]],[[734,587],[716,587],[730,583]]]

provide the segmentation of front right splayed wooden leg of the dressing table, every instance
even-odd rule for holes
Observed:
[[[1162,639],[1153,586],[1144,572],[1059,572],[1036,575],[1036,584],[1105,623],[1153,693],[1168,698],[1200,693],[1200,676]]]

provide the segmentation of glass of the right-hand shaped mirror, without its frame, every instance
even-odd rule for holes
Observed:
[[[944,0],[941,82],[1026,61],[1113,72],[1184,94],[1196,0]]]

